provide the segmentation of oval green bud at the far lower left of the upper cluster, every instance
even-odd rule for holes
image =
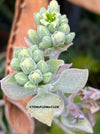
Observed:
[[[28,30],[28,37],[33,43],[38,44],[40,42],[40,37],[38,36],[37,32],[33,29]]]

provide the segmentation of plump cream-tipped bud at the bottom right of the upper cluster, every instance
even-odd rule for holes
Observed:
[[[65,43],[65,34],[63,32],[55,31],[51,36],[54,46],[60,46]]]

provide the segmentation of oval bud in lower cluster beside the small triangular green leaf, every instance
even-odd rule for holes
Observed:
[[[43,74],[48,72],[48,65],[44,60],[40,60],[37,67]]]

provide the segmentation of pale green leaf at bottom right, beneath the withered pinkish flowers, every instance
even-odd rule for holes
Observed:
[[[68,115],[67,117],[62,116],[61,120],[66,127],[72,130],[93,133],[92,126],[86,117],[84,117],[82,120],[79,119],[75,123],[72,122],[73,117],[71,115]]]

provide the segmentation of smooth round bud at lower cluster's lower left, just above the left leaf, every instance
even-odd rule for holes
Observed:
[[[19,72],[15,75],[15,80],[19,85],[23,86],[28,81],[28,77],[23,72]]]

